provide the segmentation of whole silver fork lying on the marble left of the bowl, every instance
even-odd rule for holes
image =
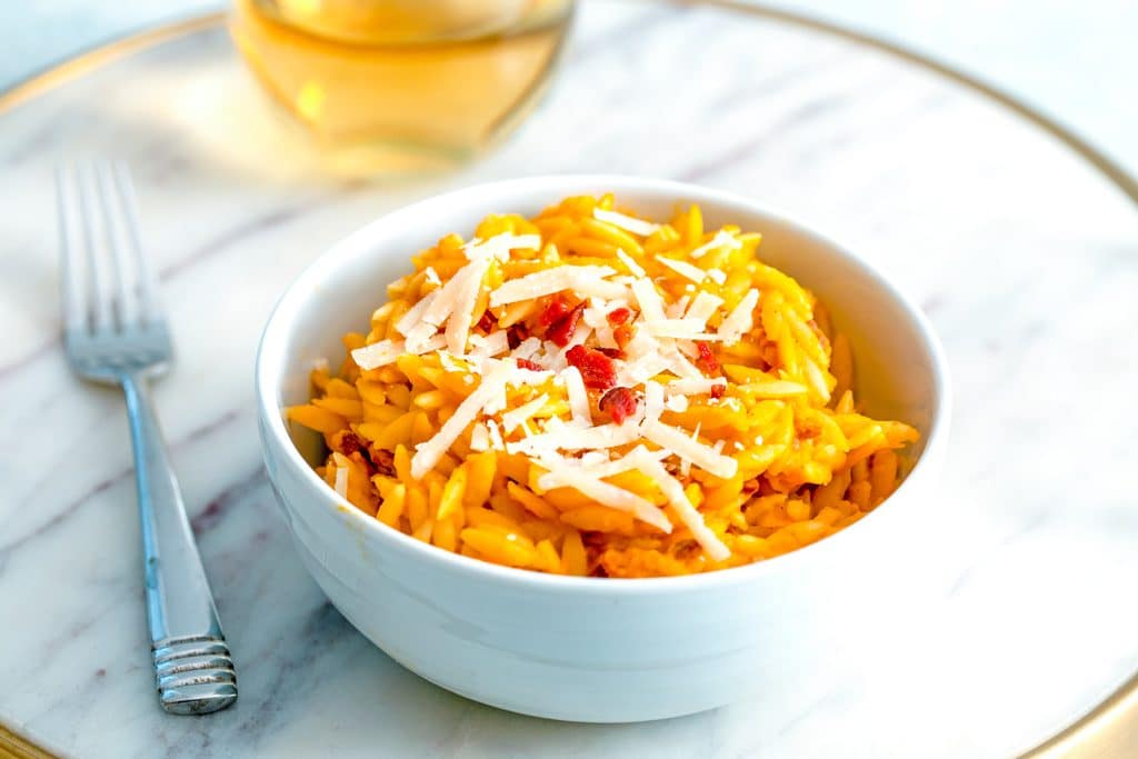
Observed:
[[[217,620],[148,381],[173,358],[139,242],[125,166],[92,163],[56,174],[64,344],[83,379],[126,396],[155,682],[163,709],[204,715],[237,700],[237,675]]]

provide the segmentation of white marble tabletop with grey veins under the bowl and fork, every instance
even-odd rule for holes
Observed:
[[[690,50],[700,55],[675,55]],[[1127,601],[1138,212],[1062,145],[887,56],[667,7],[588,6],[538,113],[437,180],[328,180],[254,91],[208,32],[0,116],[5,725],[83,757],[1001,757],[1138,667]],[[207,718],[156,704],[122,401],[80,385],[59,349],[50,168],[94,154],[134,170],[176,336],[157,405],[241,684],[238,704]],[[943,522],[914,536],[930,579],[908,645],[864,643],[871,665],[783,684],[778,699],[646,725],[558,724],[420,680],[307,578],[251,413],[273,302],[387,208],[578,171],[696,181],[790,209],[926,310],[957,412]]]

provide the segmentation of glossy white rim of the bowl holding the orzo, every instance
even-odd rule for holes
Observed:
[[[472,559],[451,551],[444,551],[435,545],[422,543],[410,535],[385,525],[373,517],[360,511],[346,500],[341,498],[335,490],[328,487],[315,470],[300,455],[296,445],[288,435],[282,406],[277,403],[277,393],[281,372],[274,372],[274,365],[283,368],[283,360],[278,357],[283,348],[289,330],[292,313],[312,292],[320,288],[313,287],[310,280],[318,280],[319,272],[327,267],[329,261],[341,257],[351,257],[362,254],[361,248],[368,248],[372,239],[391,224],[397,224],[402,217],[413,216],[424,208],[436,204],[463,204],[477,201],[483,193],[490,190],[495,192],[508,192],[511,195],[522,195],[527,192],[559,192],[558,197],[564,197],[574,192],[595,191],[604,188],[607,191],[620,192],[645,192],[651,195],[673,196],[676,199],[687,199],[702,205],[715,206],[717,209],[739,208],[750,214],[766,216],[775,221],[794,234],[811,239],[814,242],[828,248],[838,255],[847,258],[855,266],[861,270],[867,279],[872,280],[883,295],[891,297],[905,312],[920,338],[922,347],[927,353],[932,366],[933,385],[933,412],[931,423],[925,438],[925,445],[921,455],[916,459],[913,468],[906,478],[881,504],[873,510],[869,519],[861,519],[846,527],[838,533],[825,538],[802,546],[785,554],[773,556],[762,561],[756,561],[740,567],[699,572],[694,575],[681,575],[668,577],[643,577],[643,578],[596,578],[577,577],[566,575],[550,575],[529,569],[516,567],[504,567],[489,561]],[[439,232],[445,233],[445,232]],[[261,445],[265,456],[266,468],[269,464],[267,447],[275,445],[283,455],[278,460],[282,465],[289,467],[299,473],[305,485],[314,494],[319,495],[322,508],[335,510],[354,522],[360,529],[370,534],[381,546],[389,546],[391,550],[406,553],[422,561],[434,564],[437,569],[454,572],[470,572],[473,577],[497,581],[505,585],[527,587],[529,589],[546,591],[572,591],[578,593],[599,594],[641,594],[667,593],[675,591],[700,591],[712,587],[733,586],[754,581],[757,578],[772,572],[790,570],[793,566],[806,561],[820,561],[827,555],[833,555],[840,546],[852,545],[853,541],[863,542],[869,529],[869,525],[880,521],[882,517],[872,519],[879,512],[890,513],[889,504],[896,503],[913,489],[912,481],[917,476],[925,475],[930,459],[938,457],[941,449],[947,445],[948,427],[951,418],[951,380],[949,376],[948,358],[945,348],[937,337],[929,317],[918,308],[905,292],[898,288],[879,269],[866,262],[859,255],[836,242],[833,237],[818,230],[817,226],[808,225],[799,221],[795,216],[776,209],[772,206],[757,203],[747,196],[708,188],[687,182],[674,180],[654,179],[646,176],[626,174],[545,174],[525,176],[516,179],[479,182],[459,189],[448,190],[443,193],[417,200],[409,205],[401,206],[389,213],[372,220],[362,228],[352,232],[347,237],[339,239],[321,253],[311,264],[308,264],[286,288],[265,322],[261,340],[257,346],[255,358],[254,390],[256,395],[257,414],[261,421]],[[274,479],[270,472],[270,479]],[[908,486],[908,487],[907,487]],[[287,508],[287,506],[286,506]],[[291,529],[291,527],[290,527]]]

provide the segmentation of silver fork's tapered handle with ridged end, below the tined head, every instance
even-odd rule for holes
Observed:
[[[138,485],[146,607],[163,709],[204,715],[237,700],[237,675],[217,620],[182,492],[166,453],[147,378],[124,373]]]

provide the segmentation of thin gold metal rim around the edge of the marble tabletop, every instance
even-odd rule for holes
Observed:
[[[857,32],[843,26],[810,18],[787,10],[761,6],[743,5],[741,0],[674,0],[675,5],[716,6],[761,16],[783,24],[799,26],[830,36],[836,36],[857,44],[874,48],[907,63],[932,72],[943,79],[972,90],[1004,108],[1015,113],[1021,118],[1047,132],[1069,149],[1094,166],[1103,176],[1112,182],[1123,195],[1138,206],[1138,180],[1127,172],[1105,152],[1091,146],[1077,133],[1047,116],[1044,112],[1029,106],[1004,90],[960,72],[953,66],[923,55],[904,46]],[[134,34],[127,34],[109,42],[94,46],[71,58],[32,74],[0,92],[0,115],[32,100],[51,89],[77,79],[91,69],[124,58],[133,52],[160,44],[168,40],[192,34],[201,30],[221,26],[225,23],[225,13],[211,13],[193,16],[184,20],[165,24]],[[1055,734],[1044,743],[1022,754],[1022,759],[1057,759],[1075,753],[1085,756],[1107,756],[1108,748],[1116,741],[1129,740],[1138,744],[1138,674],[1123,683],[1105,701],[1087,712],[1078,721]],[[48,759],[50,753],[30,743],[18,734],[0,725],[0,759],[14,757],[18,759]]]

